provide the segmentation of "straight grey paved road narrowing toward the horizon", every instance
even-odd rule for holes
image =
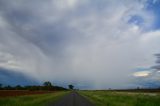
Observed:
[[[77,92],[71,92],[50,106],[93,106],[93,104]]]

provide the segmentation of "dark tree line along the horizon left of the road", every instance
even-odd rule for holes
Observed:
[[[29,85],[29,86],[22,86],[22,85],[16,85],[16,86],[4,86],[0,84],[0,90],[31,90],[31,91],[37,91],[37,90],[47,90],[47,91],[55,91],[55,90],[67,90],[64,87],[61,86],[54,86],[51,82],[46,81],[43,83],[43,85]]]

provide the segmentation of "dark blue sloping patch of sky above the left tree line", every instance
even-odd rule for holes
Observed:
[[[36,85],[39,84],[34,78],[21,72],[15,72],[0,68],[0,83],[3,85]]]

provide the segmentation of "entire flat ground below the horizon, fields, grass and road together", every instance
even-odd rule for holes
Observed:
[[[0,91],[0,106],[160,106],[160,92],[158,90],[152,90],[152,92],[8,91],[9,93],[12,95],[7,95],[7,91]],[[7,96],[3,98],[2,94]]]

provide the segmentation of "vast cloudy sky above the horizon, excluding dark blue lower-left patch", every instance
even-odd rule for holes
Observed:
[[[158,87],[159,12],[160,0],[0,0],[0,68],[81,89]]]

